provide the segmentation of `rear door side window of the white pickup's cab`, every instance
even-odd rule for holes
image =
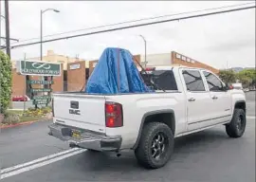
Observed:
[[[199,71],[184,70],[182,75],[187,85],[187,90],[190,91],[205,91],[204,82]]]

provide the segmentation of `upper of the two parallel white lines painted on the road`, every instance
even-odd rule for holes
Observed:
[[[29,162],[26,162],[24,164],[19,164],[19,165],[16,165],[16,166],[12,166],[12,167],[9,167],[9,168],[6,168],[4,170],[1,170],[1,173],[8,173],[10,171],[13,171],[13,170],[16,170],[16,169],[19,169],[19,168],[24,168],[26,166],[29,166],[29,165],[32,165],[32,164],[35,164],[35,163],[38,163],[38,162],[42,162],[44,160],[48,160],[50,158],[53,158],[53,157],[56,157],[56,156],[59,156],[59,155],[65,155],[67,153],[71,153],[71,152],[75,152],[75,151],[78,151],[78,150],[81,150],[79,148],[73,148],[73,149],[69,149],[67,151],[64,151],[64,152],[61,152],[61,153],[56,153],[56,154],[53,154],[53,155],[47,155],[47,156],[44,156],[42,158],[38,158],[38,159],[35,159],[35,160],[32,160],[32,161],[29,161]]]

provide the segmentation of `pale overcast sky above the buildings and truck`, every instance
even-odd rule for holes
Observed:
[[[44,35],[49,35],[247,2],[249,1],[9,1],[10,37],[19,40],[38,38],[40,9],[52,8],[61,11],[47,11],[44,14]],[[4,14],[4,2],[1,8]],[[2,33],[5,30],[3,23],[2,20]],[[81,32],[88,31],[75,33]],[[216,68],[225,68],[227,62],[229,67],[255,66],[255,9],[46,43],[44,53],[46,54],[47,49],[52,49],[58,54],[71,57],[79,54],[80,58],[91,60],[99,58],[105,47],[119,46],[129,49],[133,54],[143,54],[144,45],[139,34],[146,38],[149,54],[175,50]],[[22,59],[24,53],[27,57],[39,57],[40,45],[12,49],[12,60]]]

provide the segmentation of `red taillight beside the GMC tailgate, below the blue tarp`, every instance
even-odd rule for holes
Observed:
[[[105,103],[106,127],[116,128],[123,126],[122,106],[116,102]]]

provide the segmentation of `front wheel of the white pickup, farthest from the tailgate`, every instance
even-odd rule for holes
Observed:
[[[247,125],[246,113],[243,109],[235,109],[233,118],[226,125],[226,132],[229,137],[242,137]]]

